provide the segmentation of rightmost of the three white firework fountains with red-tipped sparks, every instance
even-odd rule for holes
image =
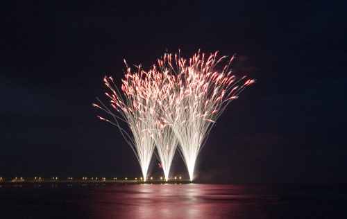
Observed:
[[[170,54],[164,55],[159,61],[160,68],[166,72],[176,72],[171,64]],[[168,100],[165,102],[161,119],[167,123],[176,134],[179,141],[180,154],[185,161],[190,180],[193,179],[196,157],[203,148],[212,124],[218,119],[231,100],[255,80],[247,80],[244,85],[239,82],[245,78],[235,79],[229,71],[232,57],[223,71],[213,71],[216,64],[225,56],[217,60],[217,52],[204,60],[197,53],[189,60],[175,55],[177,77],[169,89]],[[176,81],[175,81],[176,80]]]

